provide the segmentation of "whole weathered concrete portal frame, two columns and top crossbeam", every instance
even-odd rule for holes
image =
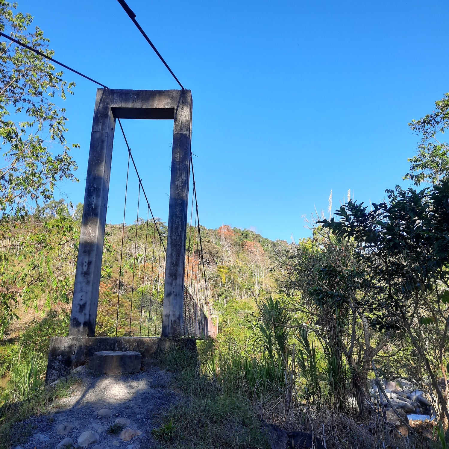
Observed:
[[[162,336],[179,337],[184,298],[192,94],[189,90],[106,88],[97,90],[95,102],[69,335],[95,335],[116,119],[174,120]]]

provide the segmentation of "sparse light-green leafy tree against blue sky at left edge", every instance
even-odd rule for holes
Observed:
[[[14,13],[17,4],[0,0],[0,30],[48,56],[49,40],[31,26],[30,14]],[[19,216],[30,206],[53,199],[58,181],[75,180],[77,166],[65,133],[66,110],[53,98],[72,93],[62,72],[44,57],[10,41],[0,42],[0,211]],[[79,145],[74,144],[73,147]],[[60,151],[54,155],[52,150]]]

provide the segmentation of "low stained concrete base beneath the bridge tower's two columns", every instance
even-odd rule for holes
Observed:
[[[176,345],[197,356],[196,340],[159,337],[53,337],[48,352],[46,383],[52,383],[80,365],[87,365],[95,352],[136,351],[142,356],[142,366],[150,366]]]

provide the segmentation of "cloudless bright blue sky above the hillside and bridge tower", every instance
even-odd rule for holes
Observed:
[[[202,225],[272,239],[309,235],[304,215],[407,185],[407,127],[449,91],[447,1],[128,0],[194,99]],[[177,88],[115,0],[19,0],[55,57],[111,88]],[[83,201],[96,86],[75,74],[65,102]],[[172,122],[124,123],[155,215],[167,219]],[[108,221],[123,220],[127,154],[116,132]],[[134,184],[136,190],[136,181]],[[134,207],[134,209],[133,209]],[[134,221],[130,203],[126,221]],[[143,215],[143,214],[142,214]]]

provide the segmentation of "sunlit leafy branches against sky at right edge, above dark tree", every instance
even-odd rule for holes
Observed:
[[[410,179],[415,185],[422,182],[437,184],[449,172],[449,145],[439,141],[449,126],[449,93],[435,102],[435,110],[419,120],[412,120],[409,127],[422,136],[418,145],[418,154],[409,158],[410,171],[404,179]]]

